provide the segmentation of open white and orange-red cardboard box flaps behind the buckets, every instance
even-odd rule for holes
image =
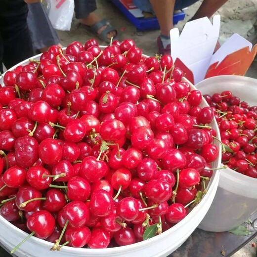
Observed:
[[[193,84],[218,75],[245,75],[257,54],[257,45],[252,47],[238,34],[230,37],[213,54],[219,28],[220,16],[215,15],[213,24],[204,17],[186,23],[180,35],[178,29],[171,30],[174,64]]]

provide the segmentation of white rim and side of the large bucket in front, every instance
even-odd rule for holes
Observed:
[[[106,46],[101,46],[101,48],[104,47]],[[39,60],[40,56],[41,54],[31,58]],[[148,56],[144,55],[144,57]],[[15,69],[19,65],[28,64],[29,59],[15,65],[13,68],[9,69],[9,71]],[[4,74],[2,77],[3,76]],[[2,77],[0,77],[0,84],[2,84]],[[191,90],[196,89],[191,83],[189,84],[191,86]],[[205,99],[203,99],[201,106],[208,106]],[[211,126],[217,132],[217,137],[220,138],[216,121],[213,121]],[[218,158],[213,163],[213,167],[217,168],[219,167],[221,161],[221,151],[220,144],[215,141],[214,144],[219,148]],[[15,255],[18,257],[135,257],[140,255],[147,257],[166,257],[185,242],[185,240],[192,234],[192,232],[204,218],[214,200],[218,180],[219,171],[216,171],[214,172],[214,175],[208,184],[208,193],[203,197],[202,201],[179,223],[171,227],[169,230],[161,233],[160,235],[150,238],[146,241],[138,242],[128,246],[107,249],[86,249],[65,246],[61,248],[61,251],[50,252],[49,249],[52,247],[52,243],[33,236],[27,240],[19,249],[16,250]],[[28,235],[1,216],[0,227],[0,243],[2,243],[9,251]]]

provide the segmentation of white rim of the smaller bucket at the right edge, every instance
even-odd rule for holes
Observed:
[[[242,89],[246,87],[247,90],[243,91]],[[257,105],[257,79],[237,75],[221,75],[199,82],[196,88],[202,94],[221,93],[221,90],[229,90],[233,95],[240,97],[241,101]],[[252,102],[251,97],[253,98]],[[227,168],[220,171],[218,186],[231,193],[257,199],[257,178],[246,176],[232,169]]]

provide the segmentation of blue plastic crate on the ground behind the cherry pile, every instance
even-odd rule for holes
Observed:
[[[120,0],[110,0],[116,7],[120,9],[120,11],[134,24],[134,26],[140,30],[158,30],[160,29],[158,20],[156,17],[151,18],[136,18],[126,6],[123,5]],[[185,13],[183,11],[179,13],[175,13],[173,15],[173,24],[177,24],[179,21],[185,18]]]

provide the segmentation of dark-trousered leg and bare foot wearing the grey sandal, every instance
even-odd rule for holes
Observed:
[[[79,19],[81,24],[86,26],[92,26],[99,22],[102,18],[95,13],[96,2],[95,0],[74,0],[75,3],[75,15],[76,19]],[[100,35],[102,31],[106,29],[106,26],[102,26],[97,30],[97,34]],[[117,35],[117,31],[113,30],[107,33],[107,39]]]

